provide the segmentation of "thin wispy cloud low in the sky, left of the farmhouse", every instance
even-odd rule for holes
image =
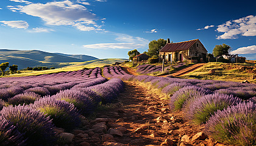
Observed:
[[[114,33],[117,38],[116,41],[121,43],[99,43],[99,44],[87,44],[84,45],[90,49],[140,49],[148,46],[149,40],[140,37],[133,37],[126,34]]]

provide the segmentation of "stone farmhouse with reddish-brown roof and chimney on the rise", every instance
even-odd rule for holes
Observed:
[[[199,39],[170,43],[168,38],[166,45],[160,49],[159,56],[166,62],[190,60],[197,63],[198,61],[207,61],[207,52]]]

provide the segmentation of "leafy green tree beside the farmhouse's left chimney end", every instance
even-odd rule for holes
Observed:
[[[159,55],[159,50],[162,49],[163,46],[165,46],[166,40],[163,40],[162,38],[156,40],[153,40],[149,42],[149,49],[148,49],[148,55]]]

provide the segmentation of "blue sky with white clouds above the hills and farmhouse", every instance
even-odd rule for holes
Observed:
[[[1,0],[0,49],[128,58],[148,43],[228,44],[256,60],[256,1]]]

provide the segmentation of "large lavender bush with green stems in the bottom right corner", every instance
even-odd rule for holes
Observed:
[[[231,145],[256,144],[256,105],[243,102],[217,111],[205,124],[205,133]]]

